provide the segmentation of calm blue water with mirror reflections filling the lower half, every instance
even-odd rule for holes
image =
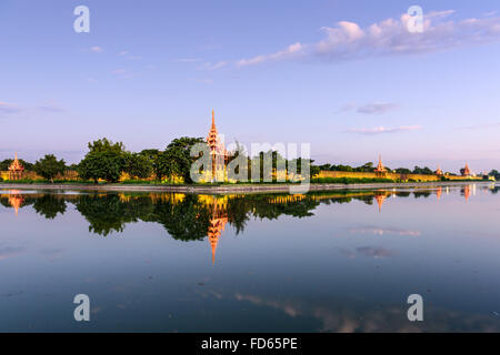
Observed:
[[[3,190],[0,331],[498,332],[498,191]]]

